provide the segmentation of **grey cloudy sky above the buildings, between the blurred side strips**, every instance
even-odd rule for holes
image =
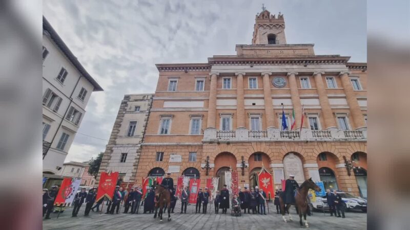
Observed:
[[[366,1],[44,0],[43,12],[90,75],[93,93],[66,162],[105,151],[125,94],[154,93],[155,63],[200,63],[250,44],[262,3],[285,19],[289,44],[366,62]]]

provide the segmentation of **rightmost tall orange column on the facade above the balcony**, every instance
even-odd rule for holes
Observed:
[[[366,127],[366,124],[364,123],[363,113],[360,109],[359,103],[357,102],[357,98],[353,90],[352,83],[350,82],[349,74],[350,73],[347,71],[340,72],[340,81],[342,82],[344,94],[346,95],[347,105],[349,106],[350,111],[352,112],[352,118],[354,123],[353,126],[355,127],[355,129],[363,129]]]

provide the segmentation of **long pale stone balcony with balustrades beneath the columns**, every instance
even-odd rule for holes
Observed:
[[[207,128],[203,133],[204,142],[213,141],[366,141],[367,130],[310,130],[303,128],[302,131],[280,131],[269,128],[265,131],[250,131],[240,127],[232,131],[221,131],[215,128]]]

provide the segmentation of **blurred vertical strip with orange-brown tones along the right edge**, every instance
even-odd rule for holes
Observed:
[[[368,229],[410,229],[410,1],[367,1]]]

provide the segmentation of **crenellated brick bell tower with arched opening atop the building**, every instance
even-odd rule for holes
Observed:
[[[285,21],[283,14],[272,15],[262,7],[262,12],[256,14],[252,44],[286,44]]]

